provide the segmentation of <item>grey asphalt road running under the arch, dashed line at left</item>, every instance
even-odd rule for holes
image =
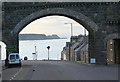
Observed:
[[[118,80],[117,66],[83,65],[69,61],[22,61],[3,70],[3,80]]]

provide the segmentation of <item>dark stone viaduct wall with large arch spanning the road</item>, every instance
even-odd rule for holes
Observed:
[[[89,59],[106,64],[106,42],[119,39],[119,2],[3,2],[2,41],[8,52],[19,52],[19,32],[32,21],[59,15],[89,31]],[[34,27],[33,27],[34,28]]]

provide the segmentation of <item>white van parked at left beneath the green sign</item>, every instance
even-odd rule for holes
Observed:
[[[8,67],[11,65],[19,65],[21,67],[21,59],[19,53],[10,53],[8,56]]]

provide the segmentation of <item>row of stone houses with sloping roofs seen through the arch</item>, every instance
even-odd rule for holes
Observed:
[[[79,35],[72,36],[70,42],[66,42],[66,46],[61,52],[61,57],[66,56],[69,61],[88,62],[88,37]]]

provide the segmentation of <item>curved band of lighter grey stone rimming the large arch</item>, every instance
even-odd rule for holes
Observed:
[[[12,35],[19,34],[19,32],[29,23],[32,21],[42,18],[45,16],[51,16],[51,15],[59,15],[59,16],[65,16],[68,18],[71,18],[78,22],[79,24],[83,25],[90,33],[94,33],[98,30],[98,26],[87,16],[65,8],[48,8],[43,9],[40,11],[37,11],[35,13],[32,13],[31,15],[27,16],[23,20],[21,20],[16,27],[11,31]]]

